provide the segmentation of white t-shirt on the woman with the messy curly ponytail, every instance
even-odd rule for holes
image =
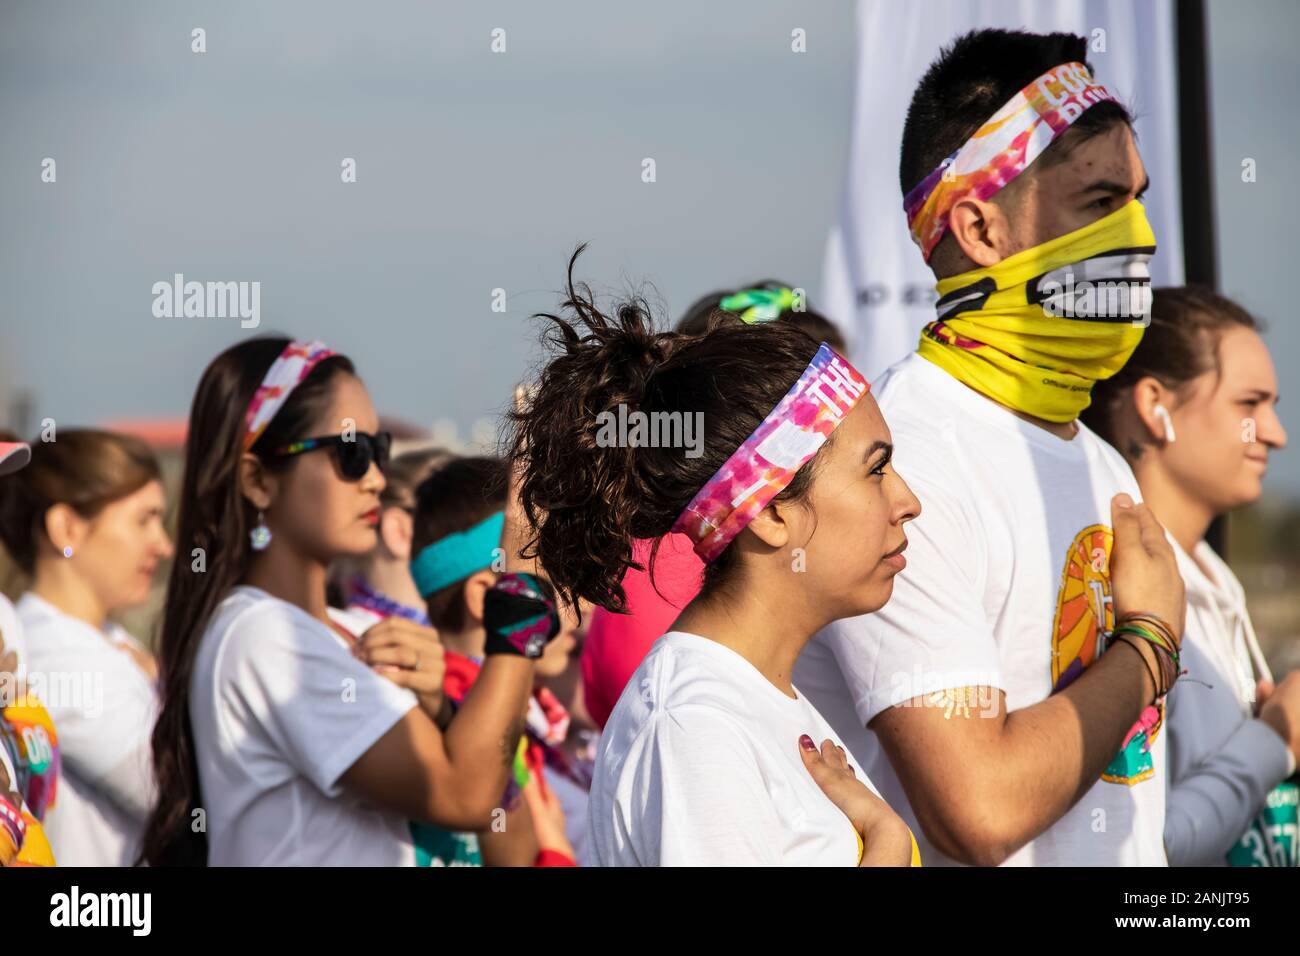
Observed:
[[[855,830],[803,766],[802,734],[838,743],[802,695],[786,697],[734,650],[664,635],[601,735],[597,865],[855,866]]]

